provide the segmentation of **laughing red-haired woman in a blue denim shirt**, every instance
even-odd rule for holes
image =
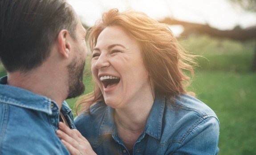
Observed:
[[[111,9],[91,28],[89,40],[91,70],[98,85],[79,104],[82,112],[75,125],[93,151],[98,155],[218,153],[218,118],[188,95],[184,70],[193,74],[193,56],[183,51],[167,25],[141,12]],[[72,149],[77,147],[70,143]]]

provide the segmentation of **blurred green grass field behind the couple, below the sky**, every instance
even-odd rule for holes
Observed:
[[[219,155],[256,155],[256,72],[251,71],[255,42],[192,36],[181,43],[188,51],[205,57],[198,58],[200,67],[189,90],[219,118]],[[0,75],[4,74],[0,66]],[[88,93],[92,90],[91,76],[85,76],[84,82]],[[76,100],[67,100],[73,112]]]

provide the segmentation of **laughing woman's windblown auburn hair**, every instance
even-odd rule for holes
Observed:
[[[156,94],[173,101],[177,95],[187,93],[186,86],[190,78],[184,71],[190,71],[193,76],[192,65],[196,65],[193,61],[195,56],[186,53],[167,24],[159,23],[142,12],[119,12],[118,9],[110,9],[89,29],[91,51],[96,46],[100,33],[111,26],[122,27],[139,43],[143,62],[153,81]],[[80,111],[88,112],[89,106],[99,101],[104,102],[104,98],[99,86],[95,84],[93,92],[78,100],[76,111],[81,105]]]

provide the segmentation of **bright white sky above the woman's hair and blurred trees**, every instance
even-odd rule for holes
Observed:
[[[132,8],[145,12],[156,20],[165,17],[191,23],[208,24],[219,30],[236,26],[247,28],[256,25],[256,13],[246,12],[229,3],[229,0],[68,0],[81,21],[92,26],[110,8],[120,11]],[[176,33],[182,27],[173,27]]]

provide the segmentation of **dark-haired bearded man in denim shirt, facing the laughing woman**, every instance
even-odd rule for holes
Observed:
[[[64,100],[85,89],[85,33],[65,0],[0,0],[0,155],[69,154],[55,132],[75,128]]]

